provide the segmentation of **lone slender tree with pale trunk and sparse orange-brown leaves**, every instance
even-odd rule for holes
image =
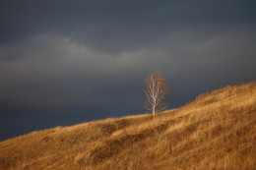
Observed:
[[[160,73],[152,74],[149,79],[146,79],[146,89],[144,92],[146,95],[144,107],[153,113],[155,119],[156,113],[167,107],[163,98],[168,93],[168,87],[165,85],[165,80]]]

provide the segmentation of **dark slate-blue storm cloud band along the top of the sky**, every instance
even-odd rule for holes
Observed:
[[[254,25],[253,1],[8,1],[1,6],[3,42],[38,32],[80,39],[96,50],[138,49],[179,29]],[[221,30],[220,30],[221,29]]]

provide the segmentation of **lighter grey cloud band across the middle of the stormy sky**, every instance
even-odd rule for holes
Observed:
[[[254,32],[197,37],[198,32],[177,32],[158,44],[117,55],[92,50],[68,37],[37,36],[0,49],[5,54],[0,76],[6,89],[1,98],[33,106],[90,106],[108,102],[111,94],[139,91],[153,71],[181,82],[253,77]]]

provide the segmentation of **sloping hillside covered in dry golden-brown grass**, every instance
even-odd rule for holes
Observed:
[[[256,169],[256,84],[185,106],[0,142],[0,169]]]

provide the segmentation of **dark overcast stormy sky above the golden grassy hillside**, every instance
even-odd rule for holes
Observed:
[[[179,107],[255,81],[253,0],[10,0],[0,4],[0,141],[145,113],[160,72]]]

